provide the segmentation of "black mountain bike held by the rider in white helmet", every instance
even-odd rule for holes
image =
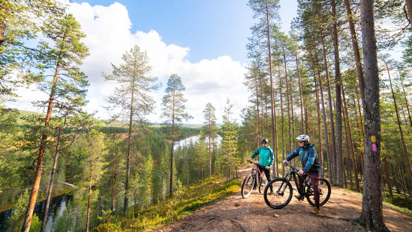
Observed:
[[[263,192],[263,198],[265,199],[265,202],[268,206],[275,208],[275,209],[280,209],[285,206],[287,206],[292,199],[292,185],[290,184],[290,180],[293,177],[293,180],[295,181],[295,185],[297,188],[297,192],[301,195],[306,197],[307,201],[309,204],[312,206],[315,206],[315,201],[314,201],[314,194],[313,194],[313,189],[312,185],[309,184],[309,177],[304,180],[299,174],[299,168],[295,168],[291,166],[288,163],[285,163],[286,170],[289,169],[289,172],[286,173],[285,178],[276,178],[271,180],[265,188],[265,191]],[[303,182],[303,191],[301,192],[299,189],[299,185],[297,184],[297,178]],[[273,195],[268,195],[268,189],[269,186],[273,186]],[[319,206],[323,206],[328,202],[329,197],[330,197],[330,184],[328,180],[325,178],[319,178]]]

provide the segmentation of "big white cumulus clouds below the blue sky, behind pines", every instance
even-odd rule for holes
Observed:
[[[216,59],[191,63],[187,60],[190,48],[165,43],[162,36],[155,31],[156,28],[149,32],[132,32],[128,11],[117,2],[108,7],[91,6],[87,2],[71,3],[68,12],[74,15],[81,24],[82,31],[87,34],[83,42],[89,47],[90,56],[84,59],[81,67],[90,82],[87,94],[89,104],[86,110],[97,110],[97,116],[101,119],[109,118],[110,112],[101,106],[107,105],[105,99],[114,92],[115,83],[104,81],[101,72],[111,73],[110,63],[119,65],[122,54],[138,45],[142,50],[146,50],[150,57],[150,65],[153,66],[150,75],[157,76],[158,81],[163,83],[163,87],[155,94],[157,114],[148,116],[150,121],[162,121],[159,118],[162,112],[160,104],[167,80],[172,73],[178,74],[186,87],[187,112],[194,116],[189,123],[203,123],[201,111],[207,102],[215,106],[218,122],[221,122],[227,97],[234,104],[234,118],[240,118],[240,110],[248,102],[248,93],[242,84],[245,64],[233,61],[228,56],[219,57],[218,54]],[[22,91],[21,99],[15,102],[13,107],[35,110],[29,106],[28,99],[33,101],[37,96],[43,96],[37,93]]]

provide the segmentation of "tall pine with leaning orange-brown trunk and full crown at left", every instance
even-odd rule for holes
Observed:
[[[64,108],[79,98],[84,98],[89,83],[87,76],[80,71],[82,59],[86,58],[89,49],[80,41],[86,35],[80,31],[80,24],[72,14],[66,14],[62,18],[49,19],[42,27],[45,38],[52,40],[53,46],[41,41],[38,50],[42,51],[42,69],[53,71],[53,75],[40,75],[36,80],[38,89],[46,92],[49,98],[45,101],[35,102],[35,107],[47,108],[44,119],[44,133],[41,137],[40,149],[37,157],[33,190],[30,194],[26,216],[24,218],[22,232],[28,232],[34,205],[36,203],[40,178],[43,170],[44,154],[47,143],[47,130],[52,117],[54,104],[57,108]],[[43,120],[41,121],[43,122]]]

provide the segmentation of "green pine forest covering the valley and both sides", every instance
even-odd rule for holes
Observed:
[[[356,220],[368,231],[388,231],[382,202],[412,210],[412,3],[297,3],[298,17],[283,33],[279,0],[248,1],[256,23],[248,25],[250,63],[239,77],[248,106],[236,118],[230,96],[222,99],[223,115],[209,102],[204,124],[190,127],[183,125],[193,116],[180,74],[160,83],[138,45],[101,74],[116,83],[104,107],[116,113],[102,120],[85,111],[87,35],[66,4],[1,1],[0,211],[14,208],[0,229],[45,232],[52,214],[53,232],[169,223],[238,191],[238,170],[262,138],[274,152],[272,176],[285,176],[282,161],[305,134],[322,177],[375,202],[363,204]],[[402,50],[401,59],[391,57],[393,50]],[[155,102],[163,85],[162,102]],[[47,96],[32,103],[44,114],[8,107],[20,86]],[[162,110],[160,125],[147,118],[155,108]],[[70,196],[63,212],[50,213],[61,195]]]

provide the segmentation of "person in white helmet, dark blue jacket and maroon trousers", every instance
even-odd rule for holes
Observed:
[[[309,143],[309,136],[299,135],[296,138],[299,141],[299,147],[292,152],[286,160],[283,161],[283,164],[291,161],[293,158],[300,156],[300,161],[302,163],[302,170],[299,170],[299,175],[302,178],[307,178],[309,176],[310,182],[312,183],[313,194],[315,207],[311,209],[312,213],[321,213],[319,209],[319,177],[321,175],[321,161],[318,159],[318,154],[316,153],[315,144]],[[298,180],[299,189],[302,191],[303,182]],[[295,198],[299,201],[304,199],[304,196],[300,194],[295,195]]]

